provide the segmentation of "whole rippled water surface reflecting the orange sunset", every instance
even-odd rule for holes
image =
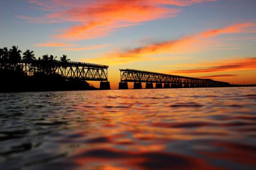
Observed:
[[[0,169],[255,169],[256,88],[0,94]]]

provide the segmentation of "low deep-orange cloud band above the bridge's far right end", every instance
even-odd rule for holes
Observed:
[[[202,63],[204,65],[205,63]],[[209,62],[206,65],[212,65]],[[235,70],[254,70],[256,69],[256,57],[244,58],[240,60],[220,61],[218,65],[202,67],[199,69],[178,70],[174,73],[208,73],[208,72],[223,72]]]

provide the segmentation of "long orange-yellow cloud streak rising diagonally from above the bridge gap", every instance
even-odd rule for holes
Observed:
[[[225,47],[228,44],[215,43],[215,41],[209,39],[214,36],[218,36],[222,33],[241,33],[246,32],[247,28],[253,27],[254,23],[237,23],[233,25],[228,25],[220,29],[216,29],[213,33],[212,30],[203,31],[195,35],[182,37],[176,40],[162,41],[159,43],[147,44],[145,46],[125,49],[123,52],[113,52],[99,58],[95,58],[94,61],[106,61],[111,64],[123,64],[133,61],[140,60],[163,60],[163,58],[151,58],[152,55],[159,54],[184,54],[184,53],[193,53],[200,50],[207,50],[207,47],[211,47],[210,50],[221,49],[221,50],[230,50],[238,49],[237,47]],[[210,36],[211,35],[211,36]],[[218,44],[218,45],[216,45]],[[155,59],[154,59],[155,58]],[[110,60],[111,59],[111,60]],[[168,58],[169,59],[169,58]],[[166,58],[165,58],[166,60]],[[110,63],[109,63],[110,64]]]

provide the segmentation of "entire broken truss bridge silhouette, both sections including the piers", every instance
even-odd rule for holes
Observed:
[[[20,60],[17,63],[3,62],[0,69],[12,69],[15,65],[26,75],[33,76],[36,73],[59,74],[66,80],[76,79],[81,81],[100,81],[100,89],[110,89],[108,81],[108,65],[90,64],[81,62],[61,62]],[[17,67],[18,66],[18,67]],[[142,89],[142,83],[146,83],[146,89],[155,88],[195,88],[195,87],[228,87],[228,82],[214,81],[211,79],[198,79],[179,75],[163,74],[149,71],[120,69],[121,81],[118,89],[128,89],[128,82],[134,82],[133,89]],[[164,86],[163,86],[164,84]]]

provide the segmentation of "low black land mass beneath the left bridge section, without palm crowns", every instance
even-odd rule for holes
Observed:
[[[0,71],[0,92],[19,91],[66,91],[66,90],[97,90],[86,81],[65,80],[59,74],[46,75],[38,73],[33,76],[18,72]]]

